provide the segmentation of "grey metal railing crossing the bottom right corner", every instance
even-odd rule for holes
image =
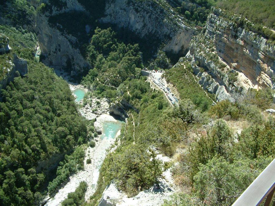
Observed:
[[[275,193],[275,159],[248,186],[232,206],[260,205],[264,199],[264,206],[269,206]],[[275,204],[275,203],[274,203]]]

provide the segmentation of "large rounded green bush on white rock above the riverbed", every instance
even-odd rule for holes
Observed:
[[[105,181],[110,183],[114,179],[118,188],[125,191],[128,197],[151,186],[161,175],[162,166],[154,151],[149,154],[146,149],[138,144],[130,144],[120,152],[108,154],[101,168]]]

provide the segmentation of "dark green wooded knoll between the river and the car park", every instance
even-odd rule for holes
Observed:
[[[94,68],[82,79],[83,85],[95,89],[95,95],[110,99],[117,96],[116,88],[127,78],[135,78],[142,67],[138,45],[118,42],[115,35],[111,28],[95,30],[88,49],[88,61]]]

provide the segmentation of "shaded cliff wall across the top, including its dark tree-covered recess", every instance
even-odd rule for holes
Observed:
[[[194,34],[165,1],[42,2],[36,18],[41,60],[51,67],[73,70],[72,74],[90,67],[83,47],[97,26],[123,28],[155,50],[164,44],[164,51],[182,54],[188,51]],[[68,23],[71,16],[76,18]]]

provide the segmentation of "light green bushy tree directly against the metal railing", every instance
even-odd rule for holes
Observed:
[[[269,161],[261,160],[264,165]],[[215,156],[206,165],[201,165],[194,177],[197,197],[206,205],[233,204],[265,168],[261,166],[252,171],[253,164],[258,163],[243,159],[230,164],[224,157]]]

